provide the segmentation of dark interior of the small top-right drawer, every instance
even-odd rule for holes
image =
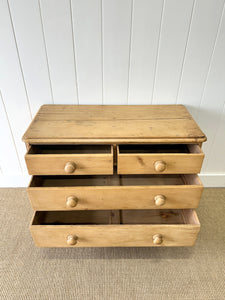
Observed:
[[[201,153],[194,144],[138,144],[119,145],[119,154],[129,153]]]

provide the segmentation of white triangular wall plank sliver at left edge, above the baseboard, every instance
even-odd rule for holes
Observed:
[[[0,93],[0,165],[3,174],[20,174],[21,167],[18,160],[9,120]]]

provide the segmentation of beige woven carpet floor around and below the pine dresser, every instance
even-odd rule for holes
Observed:
[[[225,189],[205,189],[193,248],[35,248],[25,189],[0,189],[0,299],[225,299]]]

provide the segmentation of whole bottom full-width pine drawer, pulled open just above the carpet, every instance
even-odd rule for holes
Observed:
[[[200,224],[192,209],[37,211],[38,247],[193,246]]]

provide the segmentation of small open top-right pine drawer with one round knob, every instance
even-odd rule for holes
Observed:
[[[118,174],[194,174],[204,154],[195,144],[119,145]]]

